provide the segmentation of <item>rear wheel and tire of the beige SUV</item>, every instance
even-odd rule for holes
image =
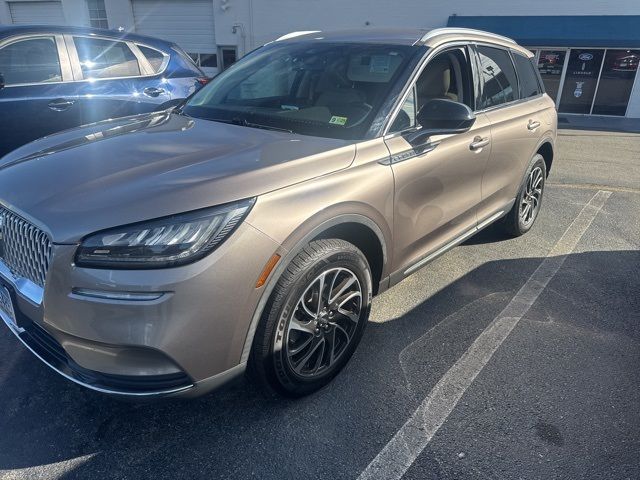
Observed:
[[[546,179],[547,165],[542,155],[536,154],[529,163],[516,202],[502,221],[508,235],[519,237],[531,230],[542,207]]]

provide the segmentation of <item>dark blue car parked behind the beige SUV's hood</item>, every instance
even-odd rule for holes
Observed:
[[[0,156],[67,128],[162,110],[206,82],[177,45],[156,38],[0,26]]]

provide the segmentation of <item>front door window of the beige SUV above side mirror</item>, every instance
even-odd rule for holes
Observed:
[[[416,116],[429,100],[453,100],[473,109],[471,72],[467,59],[467,52],[463,48],[447,50],[431,59],[398,112],[390,133],[416,127]]]

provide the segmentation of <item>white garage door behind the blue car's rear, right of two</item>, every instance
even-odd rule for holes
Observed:
[[[169,40],[190,54],[215,54],[212,0],[133,0],[136,32]]]

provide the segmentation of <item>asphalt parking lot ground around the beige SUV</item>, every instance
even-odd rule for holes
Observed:
[[[328,388],[119,403],[0,329],[0,478],[640,478],[640,135],[561,132],[533,230],[374,301]]]

